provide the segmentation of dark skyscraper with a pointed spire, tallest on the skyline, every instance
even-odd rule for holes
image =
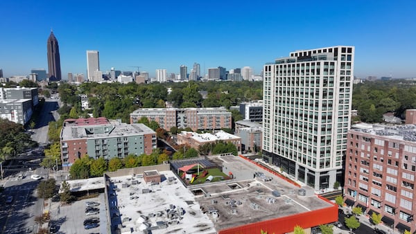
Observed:
[[[48,38],[48,69],[49,69],[49,80],[50,81],[59,81],[61,80],[60,72],[60,56],[59,56],[59,46],[58,40],[53,35],[51,30],[51,35]]]

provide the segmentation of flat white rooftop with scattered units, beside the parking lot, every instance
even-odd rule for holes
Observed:
[[[202,213],[195,196],[171,171],[159,171],[162,182],[152,185],[143,174],[112,177],[110,217],[131,233],[216,233],[214,224]],[[118,214],[117,214],[118,213]],[[118,216],[119,215],[119,216]]]

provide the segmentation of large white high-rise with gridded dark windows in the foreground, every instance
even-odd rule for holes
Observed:
[[[263,71],[263,159],[315,190],[333,188],[343,181],[354,46],[291,52]]]

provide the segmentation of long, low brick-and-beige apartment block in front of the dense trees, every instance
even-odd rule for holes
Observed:
[[[137,123],[141,117],[156,121],[169,131],[171,127],[186,128],[192,131],[231,128],[231,112],[225,107],[210,108],[141,108],[130,114],[130,123]]]

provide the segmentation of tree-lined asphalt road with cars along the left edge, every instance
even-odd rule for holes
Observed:
[[[37,232],[35,217],[42,214],[43,199],[38,199],[35,188],[40,181],[31,179],[32,174],[39,174],[44,179],[49,177],[47,170],[40,167],[40,160],[44,157],[44,145],[48,141],[49,122],[58,120],[58,99],[48,99],[40,111],[35,128],[31,130],[34,141],[40,147],[29,150],[9,161],[3,167],[1,185],[4,187],[0,197],[0,233],[26,233],[26,231]],[[38,159],[38,160],[36,160]],[[19,179],[18,175],[23,175]],[[12,196],[11,204],[6,204],[6,198]]]

